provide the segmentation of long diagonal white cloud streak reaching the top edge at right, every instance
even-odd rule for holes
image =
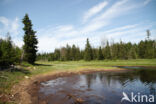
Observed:
[[[85,34],[85,32],[89,33],[97,31],[104,26],[110,25],[113,19],[143,6],[145,6],[143,2],[134,2],[134,0],[119,0],[103,13],[95,16],[95,18],[83,27],[82,32]]]

